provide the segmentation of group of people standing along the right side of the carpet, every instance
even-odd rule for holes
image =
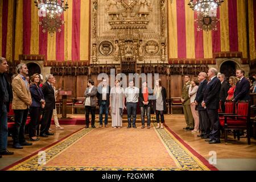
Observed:
[[[236,77],[229,77],[229,84],[225,75],[218,74],[215,68],[210,68],[208,73],[199,73],[192,81],[185,75],[184,82],[181,102],[187,126],[183,129],[200,133],[197,137],[210,144],[220,143],[218,109],[225,112],[226,100],[250,100],[250,84],[245,71],[237,69]]]

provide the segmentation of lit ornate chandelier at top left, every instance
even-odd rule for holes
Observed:
[[[68,9],[67,0],[65,3],[64,0],[36,0],[34,3],[38,7],[41,15],[48,15],[50,18],[55,18],[56,15],[60,16]]]

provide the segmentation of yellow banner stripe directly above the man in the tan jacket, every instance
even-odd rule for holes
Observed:
[[[23,0],[16,1],[14,60],[23,52]]]

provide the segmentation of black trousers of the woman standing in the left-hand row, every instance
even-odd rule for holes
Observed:
[[[30,138],[36,136],[36,130],[40,122],[41,111],[41,107],[30,107]]]

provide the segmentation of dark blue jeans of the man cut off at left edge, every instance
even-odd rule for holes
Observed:
[[[7,125],[7,106],[2,105],[0,111],[0,152],[7,149],[8,125]]]

